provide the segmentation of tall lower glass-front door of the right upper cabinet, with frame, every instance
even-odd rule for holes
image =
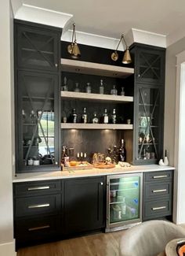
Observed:
[[[161,88],[141,86],[137,90],[135,161],[155,163],[161,157],[163,144]]]

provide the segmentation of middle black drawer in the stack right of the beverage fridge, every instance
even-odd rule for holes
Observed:
[[[172,183],[145,184],[144,198],[153,199],[158,197],[171,197]]]

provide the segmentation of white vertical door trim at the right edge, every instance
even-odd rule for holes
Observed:
[[[176,55],[176,124],[175,124],[175,149],[174,149],[174,199],[173,199],[173,221],[177,224],[185,222],[184,210],[184,166],[185,161],[183,147],[183,124],[185,122],[184,109],[185,103],[185,51]]]

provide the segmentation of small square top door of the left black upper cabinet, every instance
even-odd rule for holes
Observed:
[[[58,71],[60,32],[27,24],[17,24],[15,32],[19,68]]]

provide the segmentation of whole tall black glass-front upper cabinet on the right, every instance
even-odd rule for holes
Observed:
[[[134,165],[157,163],[163,154],[165,49],[134,44]]]

